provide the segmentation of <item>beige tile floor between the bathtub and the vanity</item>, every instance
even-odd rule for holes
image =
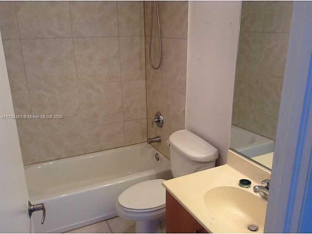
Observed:
[[[160,233],[166,233],[166,222],[160,223]],[[67,233],[135,233],[136,222],[120,217],[107,219],[89,226],[78,228]]]

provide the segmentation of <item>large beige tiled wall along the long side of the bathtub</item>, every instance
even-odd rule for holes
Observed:
[[[64,115],[17,121],[24,164],[146,141],[143,2],[1,1],[0,29],[16,114]]]

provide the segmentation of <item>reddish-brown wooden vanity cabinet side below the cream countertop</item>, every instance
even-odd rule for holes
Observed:
[[[166,233],[207,233],[168,191],[166,191]]]

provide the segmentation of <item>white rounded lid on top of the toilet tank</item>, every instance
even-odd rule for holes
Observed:
[[[218,158],[217,149],[188,130],[179,130],[169,137],[170,145],[197,162],[209,162]]]

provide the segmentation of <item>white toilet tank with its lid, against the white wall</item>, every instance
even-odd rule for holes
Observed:
[[[169,137],[170,165],[174,177],[215,167],[217,149],[188,130],[179,130]]]

